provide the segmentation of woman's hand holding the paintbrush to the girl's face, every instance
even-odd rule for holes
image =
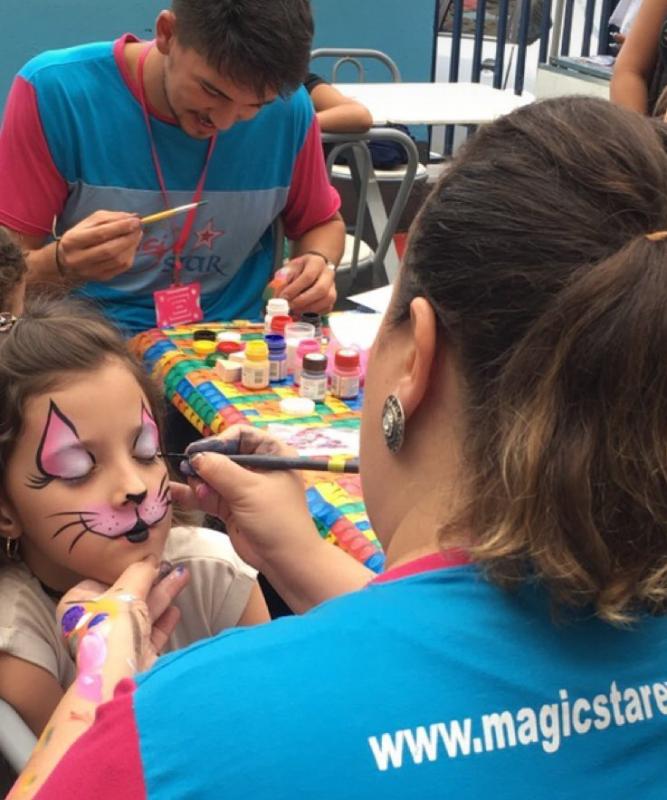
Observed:
[[[235,425],[219,436],[228,452],[294,456],[296,451],[257,428]],[[189,486],[172,483],[172,497],[186,508],[200,508],[225,523],[235,550],[260,571],[277,552],[294,552],[319,542],[303,481],[297,472],[255,472],[218,453],[205,452],[206,439],[188,447],[197,473]]]

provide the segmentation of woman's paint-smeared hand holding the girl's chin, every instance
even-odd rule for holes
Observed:
[[[135,669],[143,671],[153,665],[178,624],[180,612],[172,603],[188,580],[189,574],[183,567],[174,569],[166,562],[158,565],[154,558],[139,561],[130,565],[113,586],[85,580],[70,589],[58,603],[58,622],[67,631],[80,609],[108,614],[106,624],[112,628],[119,617],[122,623],[128,618],[134,639]],[[67,635],[74,657],[82,638]]]

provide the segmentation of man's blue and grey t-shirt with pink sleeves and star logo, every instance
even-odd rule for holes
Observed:
[[[62,233],[98,209],[140,216],[164,209],[139,89],[125,63],[124,47],[134,41],[126,35],[49,51],[19,72],[0,131],[0,224],[43,236],[54,215]],[[155,114],[150,125],[168,204],[191,202],[208,141]],[[258,317],[273,267],[273,221],[282,216],[296,239],[339,206],[304,88],[218,134],[202,198],[182,280],[201,284],[205,319]],[[172,282],[172,245],[185,219],[147,227],[131,269],[78,293],[127,332],[153,327],[153,292]]]

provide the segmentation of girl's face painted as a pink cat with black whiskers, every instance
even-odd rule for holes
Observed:
[[[161,557],[171,497],[158,452],[148,401],[117,360],[28,400],[2,503],[43,583],[112,583],[129,564]]]

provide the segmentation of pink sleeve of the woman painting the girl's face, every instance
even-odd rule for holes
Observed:
[[[133,681],[121,681],[95,723],[61,759],[36,800],[146,800]]]

